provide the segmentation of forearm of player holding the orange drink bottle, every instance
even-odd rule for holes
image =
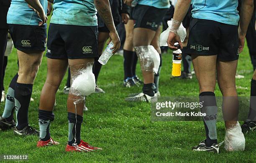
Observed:
[[[172,21],[172,27],[170,28],[170,32],[177,33],[180,24],[182,23],[189,6],[191,4],[191,0],[178,0],[175,5],[174,16]]]

